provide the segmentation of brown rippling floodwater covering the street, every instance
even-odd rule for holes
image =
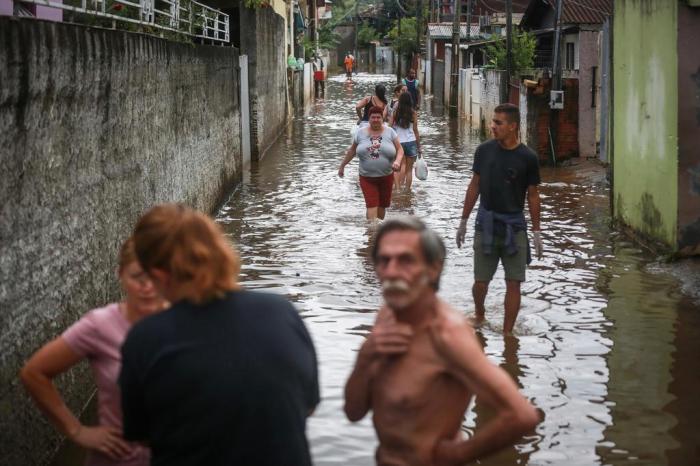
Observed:
[[[380,82],[391,89],[395,77],[332,78],[325,100],[294,119],[217,218],[241,253],[243,284],[287,296],[312,334],[322,402],[308,435],[319,466],[374,464],[370,419],[345,419],[342,390],[381,296],[357,159],[345,178],[336,172],[355,102]],[[419,129],[430,176],[395,197],[387,217],[417,215],[443,237],[440,295],[470,314],[470,233],[461,250],[454,236],[480,139],[439,109],[423,111]],[[515,448],[479,464],[698,465],[700,306],[666,266],[610,228],[604,178],[587,173],[542,170],[545,257],[528,270],[516,337],[501,332],[502,269],[491,284],[478,331],[485,352],[545,419]],[[477,400],[464,431],[489,416]]]

